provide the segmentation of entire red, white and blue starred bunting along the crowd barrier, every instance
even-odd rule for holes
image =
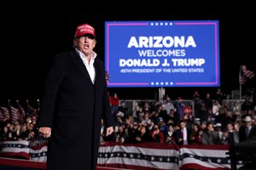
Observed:
[[[32,162],[46,162],[47,144],[29,147],[26,140],[4,141],[0,156],[21,158]],[[140,170],[230,170],[227,156],[229,145],[183,145],[176,144],[103,144],[99,148],[97,166]],[[238,161],[237,167],[245,162]]]

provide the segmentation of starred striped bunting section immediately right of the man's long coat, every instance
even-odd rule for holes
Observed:
[[[99,149],[99,167],[127,169],[179,169],[179,150],[173,144],[108,144]]]

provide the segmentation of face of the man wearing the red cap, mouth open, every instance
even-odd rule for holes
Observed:
[[[85,34],[82,37],[75,38],[74,44],[77,46],[79,51],[86,55],[90,54],[93,48],[95,48],[96,39],[90,34]]]

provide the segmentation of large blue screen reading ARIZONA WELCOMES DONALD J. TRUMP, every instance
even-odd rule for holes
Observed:
[[[108,87],[218,87],[218,20],[106,21]]]

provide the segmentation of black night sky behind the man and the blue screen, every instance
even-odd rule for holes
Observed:
[[[219,7],[224,8],[223,11],[218,8],[202,11],[202,8],[184,10],[179,6],[176,10],[170,7],[161,12],[154,12],[154,8],[135,12],[131,8],[130,12],[111,10],[112,13],[96,13],[96,9],[94,13],[47,8],[12,9],[1,14],[0,99],[39,99],[50,60],[54,54],[73,49],[74,31],[80,24],[95,27],[95,51],[104,60],[104,22],[107,20],[219,20],[221,86],[166,88],[166,94],[171,99],[179,96],[191,99],[197,90],[204,98],[207,93],[215,94],[218,88],[230,94],[239,89],[240,65],[247,65],[248,70],[256,72],[253,61],[256,58],[255,11],[251,7],[237,4],[236,8]],[[247,80],[242,89],[255,88],[255,79]],[[111,94],[117,92],[121,99],[154,99],[158,88],[109,88],[109,91]]]

